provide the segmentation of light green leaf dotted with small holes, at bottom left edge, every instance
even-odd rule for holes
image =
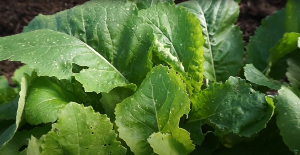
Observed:
[[[50,132],[37,142],[34,138],[29,141],[27,153],[37,151],[37,155],[125,155],[126,149],[115,140],[116,134],[106,115],[95,113],[91,107],[71,102],[63,108],[58,118],[57,123],[52,124]]]

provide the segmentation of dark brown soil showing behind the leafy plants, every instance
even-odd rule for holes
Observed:
[[[0,37],[20,33],[23,26],[39,13],[53,14],[85,1],[88,0],[0,0]],[[186,0],[175,0],[176,3],[182,1]],[[236,25],[240,26],[246,44],[261,19],[284,5],[285,0],[241,0]],[[20,62],[0,61],[0,75],[6,76],[12,85],[10,77],[21,65]]]

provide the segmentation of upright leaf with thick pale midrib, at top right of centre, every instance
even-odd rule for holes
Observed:
[[[187,0],[184,6],[200,20],[205,39],[204,76],[212,81],[225,81],[236,76],[242,66],[244,41],[234,25],[239,6],[234,0]]]

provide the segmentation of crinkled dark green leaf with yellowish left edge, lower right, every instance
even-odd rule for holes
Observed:
[[[190,98],[192,107],[188,122],[207,120],[222,136],[233,132],[250,137],[261,129],[273,115],[270,98],[251,89],[238,77],[229,77],[224,84],[212,83]]]

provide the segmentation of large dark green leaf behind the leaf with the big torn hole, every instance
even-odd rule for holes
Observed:
[[[53,15],[40,14],[23,31],[49,28],[72,35],[102,55],[129,82],[139,85],[151,69],[149,50],[152,46],[153,30],[144,23],[142,17],[137,16],[137,12],[136,6],[126,0],[90,0]],[[95,57],[89,57],[86,61],[100,64]],[[61,65],[64,66],[63,63]],[[110,82],[107,80],[105,83]],[[89,83],[90,85],[94,84]]]

